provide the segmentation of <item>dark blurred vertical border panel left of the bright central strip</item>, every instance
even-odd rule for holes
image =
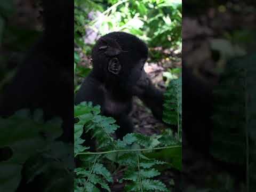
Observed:
[[[0,191],[73,191],[74,2],[0,5]]]

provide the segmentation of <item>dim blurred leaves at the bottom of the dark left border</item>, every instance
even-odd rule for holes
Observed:
[[[37,187],[38,182],[43,192],[73,191],[73,145],[55,140],[62,134],[61,123],[60,118],[45,122],[39,109],[0,117],[0,191]]]

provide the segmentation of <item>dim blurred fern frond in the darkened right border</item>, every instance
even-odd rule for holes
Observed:
[[[239,191],[256,189],[255,60],[256,54],[231,59],[214,90],[211,153],[220,161],[237,165],[237,170],[245,167]],[[237,183],[233,178],[229,183],[233,185],[225,191],[234,191]]]

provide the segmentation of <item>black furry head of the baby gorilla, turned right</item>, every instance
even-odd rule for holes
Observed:
[[[93,47],[93,70],[110,89],[127,92],[139,80],[145,82],[147,57],[148,47],[138,37],[113,32],[102,36]]]

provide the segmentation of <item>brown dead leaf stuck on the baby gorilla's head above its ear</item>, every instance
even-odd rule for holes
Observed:
[[[120,45],[112,38],[101,39],[107,45],[102,45],[99,50],[105,50],[107,56],[116,56],[122,52]]]

